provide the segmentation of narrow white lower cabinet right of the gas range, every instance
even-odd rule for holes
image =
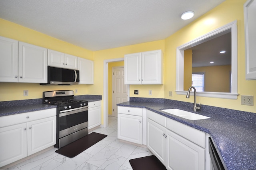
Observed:
[[[88,103],[88,130],[101,125],[101,100]]]

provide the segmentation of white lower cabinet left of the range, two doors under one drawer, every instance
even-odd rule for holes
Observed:
[[[56,108],[0,117],[0,167],[56,144]]]

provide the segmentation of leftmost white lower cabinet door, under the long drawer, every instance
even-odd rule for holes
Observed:
[[[27,124],[0,128],[0,167],[27,156]]]

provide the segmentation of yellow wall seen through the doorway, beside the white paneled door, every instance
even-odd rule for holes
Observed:
[[[112,115],[112,68],[123,66],[124,67],[124,61],[120,62],[110,62],[108,63],[108,114]]]

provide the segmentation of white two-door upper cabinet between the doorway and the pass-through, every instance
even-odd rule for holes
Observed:
[[[124,56],[124,84],[163,84],[162,50]]]

